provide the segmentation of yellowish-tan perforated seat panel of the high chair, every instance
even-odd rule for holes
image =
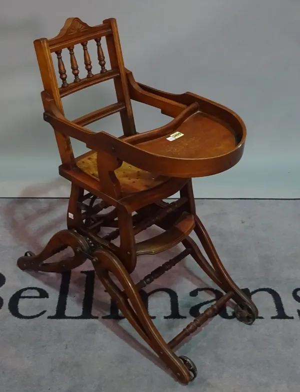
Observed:
[[[84,173],[99,180],[97,171],[97,153],[89,151],[76,159],[76,165]],[[121,191],[123,193],[133,193],[141,190],[152,188],[159,185],[169,177],[150,173],[138,167],[132,166],[126,162],[114,171],[118,181],[120,182]]]

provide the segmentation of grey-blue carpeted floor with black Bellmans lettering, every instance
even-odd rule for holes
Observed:
[[[223,264],[252,293],[260,318],[247,326],[227,307],[179,347],[198,369],[188,386],[117,319],[89,262],[63,275],[16,267],[26,250],[38,251],[65,227],[65,200],[0,200],[0,209],[1,392],[299,392],[300,201],[197,202]],[[142,258],[134,280],[179,249]],[[163,337],[209,306],[214,289],[189,258],[148,286]]]

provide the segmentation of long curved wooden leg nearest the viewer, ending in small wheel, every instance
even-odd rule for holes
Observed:
[[[97,276],[133,328],[183,384],[191,381],[196,375],[195,366],[188,358],[178,357],[159,334],[135,284],[120,260],[112,252],[104,249],[96,250],[92,257]],[[123,291],[110,279],[109,273],[118,280]]]

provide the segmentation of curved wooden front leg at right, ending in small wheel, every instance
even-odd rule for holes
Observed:
[[[237,287],[232,278],[229,276],[217,255],[206,229],[198,217],[195,217],[194,231],[208,256],[211,265],[202,255],[201,251],[191,238],[184,240],[183,245],[191,248],[191,255],[196,263],[216,285],[225,292],[233,291],[234,295],[232,296],[232,299],[237,304],[234,310],[236,318],[245,324],[252,324],[258,316],[257,307],[251,299]]]

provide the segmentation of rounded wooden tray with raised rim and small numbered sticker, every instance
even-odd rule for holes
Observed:
[[[213,116],[197,102],[163,127],[122,140],[106,132],[93,136],[95,144],[113,151],[143,170],[172,177],[202,177],[234,166],[241,158],[246,128],[233,112]],[[90,144],[92,146],[92,143]]]

